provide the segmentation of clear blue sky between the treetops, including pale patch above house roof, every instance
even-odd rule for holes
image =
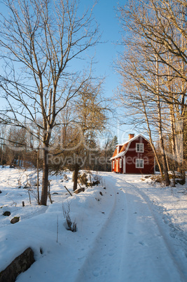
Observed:
[[[86,1],[86,0],[85,0]],[[99,0],[95,6],[94,15],[102,32],[102,40],[106,43],[99,44],[96,48],[96,74],[106,76],[104,95],[113,97],[119,85],[120,77],[113,68],[113,62],[118,53],[123,51],[120,46],[121,33],[120,23],[117,17],[118,4],[125,5],[127,0]],[[118,142],[127,140],[129,133],[135,133],[133,126],[120,126],[118,116],[109,121],[109,127],[113,134],[118,136]]]

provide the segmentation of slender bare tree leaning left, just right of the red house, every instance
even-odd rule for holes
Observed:
[[[162,168],[158,159],[158,154],[154,147],[153,135],[160,135],[160,147],[162,148],[162,165],[167,178],[166,184],[169,184],[167,174],[167,163],[165,157],[165,147],[163,144],[163,124],[162,124],[162,103],[160,102],[159,79],[157,76],[151,76],[151,70],[158,69],[156,60],[153,60],[150,66],[145,63],[146,56],[138,54],[136,46],[131,48],[130,52],[123,54],[118,60],[117,70],[122,77],[120,87],[120,105],[125,107],[125,116],[129,118],[129,123],[141,130],[146,130],[151,147],[155,154],[160,173]],[[146,70],[145,70],[146,68]],[[149,69],[149,72],[148,72]],[[152,88],[152,90],[144,90]]]

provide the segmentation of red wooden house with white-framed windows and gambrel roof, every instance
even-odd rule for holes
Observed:
[[[154,173],[154,154],[150,142],[141,134],[123,145],[116,145],[111,158],[111,171],[115,173]]]

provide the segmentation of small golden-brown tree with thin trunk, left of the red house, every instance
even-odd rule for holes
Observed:
[[[68,167],[74,170],[74,190],[77,188],[78,170],[91,169],[98,148],[97,135],[104,129],[106,123],[106,105],[102,97],[102,81],[87,81],[78,92],[74,102],[69,101],[69,111],[64,109],[63,116],[57,120],[59,130],[56,138],[61,136],[62,146],[56,147],[54,156],[64,156],[64,162],[53,162],[53,169]],[[52,152],[53,153],[53,152]],[[58,158],[56,158],[58,159]]]

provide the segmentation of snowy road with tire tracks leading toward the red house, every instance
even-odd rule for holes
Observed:
[[[185,270],[139,189],[122,175],[112,176],[112,183],[116,205],[76,282],[186,281]]]

